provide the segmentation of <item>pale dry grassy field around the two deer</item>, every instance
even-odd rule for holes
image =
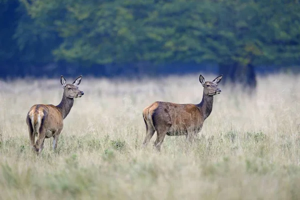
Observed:
[[[0,199],[300,199],[300,76],[258,77],[253,95],[221,81],[196,143],[166,136],[159,153],[154,134],[141,148],[142,109],[200,102],[198,75],[83,77],[57,150],[45,139],[40,156],[25,117],[35,103],[59,103],[60,77],[2,84]]]

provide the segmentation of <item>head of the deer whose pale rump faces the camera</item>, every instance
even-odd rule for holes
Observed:
[[[61,75],[60,77],[60,83],[63,88],[63,94],[67,98],[77,98],[81,97],[84,92],[78,89],[78,85],[81,82],[82,75],[77,77],[72,84],[66,83],[65,78]]]

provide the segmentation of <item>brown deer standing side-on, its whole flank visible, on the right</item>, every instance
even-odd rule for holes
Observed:
[[[200,74],[199,81],[203,88],[203,97],[199,104],[177,104],[172,102],[155,101],[143,109],[142,115],[146,125],[145,146],[156,131],[154,142],[159,151],[165,135],[186,135],[191,140],[201,130],[204,120],[212,110],[213,96],[221,89],[217,84],[222,75],[212,81],[204,81]]]

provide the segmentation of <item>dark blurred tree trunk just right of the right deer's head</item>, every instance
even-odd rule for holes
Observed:
[[[251,64],[246,66],[237,63],[233,65],[220,64],[219,73],[223,74],[222,82],[225,84],[239,83],[249,89],[256,87],[256,75],[254,66]]]

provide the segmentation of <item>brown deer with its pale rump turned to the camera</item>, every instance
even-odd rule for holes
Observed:
[[[67,84],[61,75],[60,83],[63,88],[62,99],[58,105],[35,104],[27,113],[26,123],[29,130],[29,139],[33,149],[40,153],[43,149],[45,138],[53,137],[53,150],[57,147],[59,133],[63,127],[63,119],[71,110],[74,98],[81,97],[84,93],[78,89],[82,75],[77,77],[72,84]],[[35,135],[37,140],[35,141]]]

